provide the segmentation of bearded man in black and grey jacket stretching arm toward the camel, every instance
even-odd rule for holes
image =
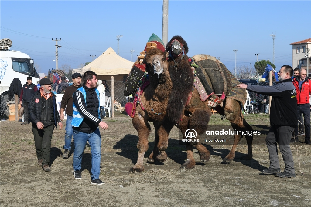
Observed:
[[[293,68],[283,65],[278,72],[279,81],[274,86],[255,86],[239,84],[239,88],[247,89],[255,93],[272,96],[270,108],[271,128],[266,137],[266,144],[269,151],[270,167],[262,170],[262,173],[281,178],[296,177],[293,155],[290,150],[290,138],[297,125],[296,115],[296,90],[291,83]],[[277,155],[277,143],[285,163],[284,172],[280,173],[279,158]]]

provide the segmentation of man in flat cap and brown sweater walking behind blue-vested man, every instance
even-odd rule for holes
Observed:
[[[65,89],[65,93],[62,99],[62,104],[60,106],[60,119],[63,121],[64,119],[64,111],[66,109],[67,119],[66,119],[66,132],[65,132],[65,145],[64,145],[64,153],[63,158],[67,159],[69,152],[71,150],[71,138],[72,138],[72,94],[80,88],[82,82],[82,76],[80,73],[72,74],[72,82],[73,84]]]

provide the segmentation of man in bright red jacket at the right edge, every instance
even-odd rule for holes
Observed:
[[[299,70],[299,76],[296,76],[293,80],[294,86],[296,88],[296,98],[297,98],[297,119],[299,119],[300,114],[304,115],[304,133],[305,133],[305,143],[311,144],[310,142],[310,102],[309,94],[311,93],[311,81],[307,77],[307,71],[304,69]],[[295,128],[295,137],[298,135],[298,125]],[[298,138],[296,138],[296,142]],[[291,142],[295,142],[294,138]]]

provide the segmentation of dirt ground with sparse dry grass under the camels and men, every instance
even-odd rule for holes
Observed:
[[[247,115],[250,124],[266,123],[267,115]],[[291,144],[296,178],[262,175],[269,167],[266,145],[253,145],[253,160],[241,160],[247,146],[237,147],[235,159],[223,164],[232,145],[211,145],[211,159],[201,163],[197,150],[195,169],[180,170],[186,159],[185,146],[179,145],[178,129],[169,136],[165,163],[147,164],[154,146],[154,129],[145,154],[145,171],[128,173],[137,161],[138,136],[131,118],[116,113],[105,118],[108,130],[100,130],[102,158],[100,178],[104,185],[91,185],[91,150],[86,146],[82,160],[82,179],[73,177],[71,154],[62,159],[65,130],[54,130],[51,148],[51,172],[37,164],[31,124],[15,121],[0,124],[0,205],[1,206],[310,206],[310,145]],[[212,115],[210,124],[220,122]],[[65,124],[65,123],[64,123]],[[65,128],[65,126],[64,126]],[[245,140],[245,138],[243,138]],[[304,137],[299,137],[304,141]],[[233,138],[230,140],[233,143]],[[73,142],[72,142],[73,146]],[[73,153],[73,149],[71,151]],[[280,155],[281,170],[284,163]]]

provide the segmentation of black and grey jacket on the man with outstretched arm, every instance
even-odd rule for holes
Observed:
[[[291,79],[277,81],[274,86],[248,85],[246,89],[251,92],[272,96],[270,108],[271,125],[296,127],[296,89]]]

